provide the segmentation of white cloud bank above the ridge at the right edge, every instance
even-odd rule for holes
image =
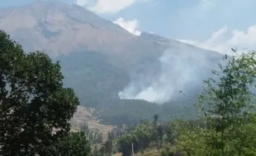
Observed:
[[[249,26],[247,30],[231,30],[225,26],[211,34],[209,39],[204,41],[179,39],[180,41],[193,44],[200,48],[214,50],[219,53],[230,54],[230,48],[237,48],[239,51],[256,49],[256,25]]]

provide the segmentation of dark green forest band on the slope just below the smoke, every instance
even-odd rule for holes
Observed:
[[[181,102],[183,103],[183,102]],[[187,103],[190,103],[187,100]],[[167,122],[175,117],[195,118],[197,108],[187,104],[184,107],[177,103],[164,103],[157,105],[144,100],[122,99],[115,107],[107,108],[99,114],[103,124],[130,124],[141,120],[152,120],[152,114],[161,114],[159,121]]]

